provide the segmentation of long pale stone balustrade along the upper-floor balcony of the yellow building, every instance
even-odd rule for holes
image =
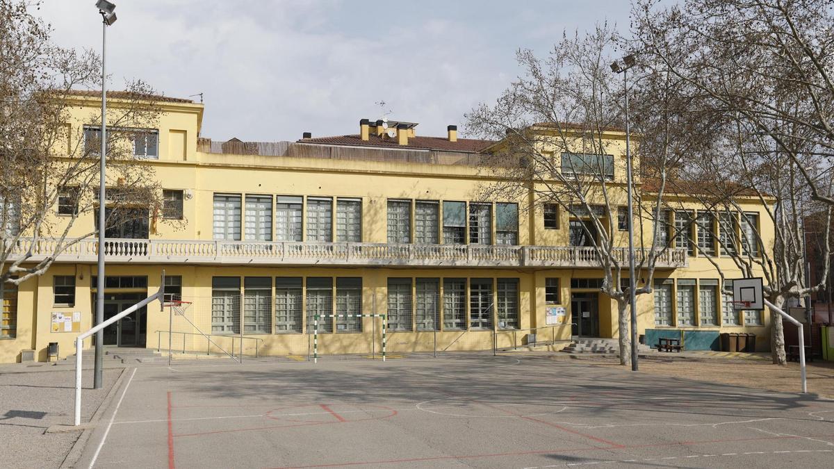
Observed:
[[[6,241],[8,243],[8,241]],[[98,240],[67,245],[50,238],[21,238],[7,245],[12,258],[32,253],[32,260],[55,255],[58,262],[97,260]],[[649,250],[635,250],[645,260]],[[398,245],[388,243],[322,243],[295,241],[132,240],[110,239],[104,244],[110,260],[129,262],[193,262],[295,265],[439,265],[492,267],[595,267],[600,265],[594,248],[575,246],[510,245]],[[627,248],[615,248],[613,257],[625,264]],[[686,267],[686,249],[671,248],[657,255],[656,267]]]

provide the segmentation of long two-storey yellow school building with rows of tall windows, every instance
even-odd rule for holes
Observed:
[[[108,106],[118,106],[113,96]],[[68,99],[70,135],[93,134],[98,97]],[[358,119],[349,135],[217,142],[200,134],[202,103],[160,105],[158,128],[136,131],[143,138],[135,152],[153,167],[164,206],[108,229],[104,310],[111,317],[155,292],[163,270],[174,305],[161,311],[153,302],[119,320],[105,330],[105,345],[167,349],[170,335],[179,351],[307,356],[319,317],[319,354],[369,353],[382,334],[373,315],[385,315],[389,353],[618,337],[616,304],[600,293],[603,273],[581,234],[583,217],[531,196],[483,195],[496,182],[485,154],[500,142],[458,138],[455,125],[429,137],[417,124],[375,119]],[[611,182],[622,186],[625,134],[604,138],[616,149],[605,155]],[[637,190],[647,194],[650,185]],[[694,220],[709,214],[694,199],[677,201],[681,209],[664,216],[684,235],[659,256],[654,292],[638,297],[638,333],[648,345],[680,334],[705,348],[722,332],[752,333],[756,349],[767,350],[769,315],[733,310],[721,294],[713,262],[727,278],[741,275],[719,249],[727,234],[718,217],[703,229]],[[623,219],[600,207],[627,265]],[[750,199],[742,209],[733,239],[753,226],[761,249],[772,249],[765,207]],[[58,229],[65,210],[55,208]],[[70,236],[91,231],[93,215],[81,214]],[[651,221],[641,223],[636,232],[651,233]],[[53,254],[48,238],[25,235],[14,255],[32,250],[38,262]],[[61,356],[73,353],[75,337],[93,326],[97,245],[81,240],[46,274],[6,285],[0,362],[46,361],[51,343]]]

